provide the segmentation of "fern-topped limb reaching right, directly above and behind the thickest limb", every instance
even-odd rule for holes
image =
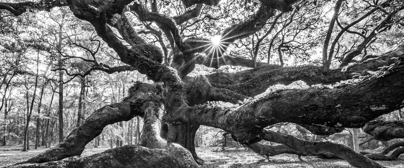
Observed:
[[[305,81],[308,85],[329,84],[359,75],[369,75],[369,72],[379,71],[379,67],[393,64],[397,58],[404,56],[403,53],[404,47],[400,47],[378,58],[352,64],[345,72],[341,72],[342,68],[323,71],[320,66],[281,67],[267,64],[238,73],[221,72],[206,75],[206,77],[215,87],[255,96],[276,84],[289,85],[298,80]]]

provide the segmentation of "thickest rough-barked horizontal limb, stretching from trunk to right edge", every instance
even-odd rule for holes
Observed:
[[[360,128],[377,116],[401,108],[404,100],[403,69],[403,62],[399,60],[355,85],[278,90],[262,94],[239,107],[178,106],[181,97],[173,95],[176,97],[168,97],[167,102],[177,100],[177,109],[166,104],[169,114],[166,119],[173,124],[198,123],[221,128],[245,144],[256,141],[255,136],[261,129],[279,122]]]

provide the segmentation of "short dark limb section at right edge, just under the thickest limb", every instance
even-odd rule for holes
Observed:
[[[404,138],[404,120],[389,121],[385,118],[378,118],[367,123],[363,131],[379,141]]]

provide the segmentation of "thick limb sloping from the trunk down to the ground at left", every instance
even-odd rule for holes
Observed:
[[[65,141],[21,163],[43,163],[61,160],[70,156],[79,156],[85,145],[101,134],[105,126],[120,121],[128,121],[134,116],[143,115],[143,111],[139,109],[142,106],[137,104],[139,101],[135,101],[136,103],[134,104],[133,100],[151,100],[152,95],[158,95],[156,92],[147,94],[151,91],[157,92],[158,90],[152,85],[135,83],[129,89],[130,95],[123,102],[107,105],[96,110],[83,124],[74,129],[66,137]],[[134,106],[137,108],[134,108]]]

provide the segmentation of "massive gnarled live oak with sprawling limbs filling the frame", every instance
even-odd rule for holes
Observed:
[[[299,124],[316,135],[331,135],[341,132],[344,127],[364,127],[366,133],[375,139],[404,137],[402,121],[374,120],[404,106],[403,44],[400,43],[391,51],[385,51],[385,54],[346,66],[364,48],[372,44],[378,33],[401,26],[400,11],[404,7],[402,2],[367,2],[369,8],[381,11],[385,16],[375,17],[374,23],[366,26],[366,31],[370,33],[362,33],[364,40],[358,46],[353,45],[355,50],[341,57],[341,67],[336,69],[328,68],[330,56],[334,56],[331,54],[333,49],[329,51],[328,57],[323,53],[322,66],[309,64],[283,67],[256,62],[256,57],[247,59],[226,54],[236,40],[254,35],[267,25],[269,19],[274,19],[279,13],[299,13],[305,6],[318,5],[317,1],[254,1],[252,6],[257,10],[249,17],[239,18],[232,24],[223,24],[226,28],[221,32],[220,41],[217,43],[204,37],[210,36],[209,34],[195,35],[200,33],[200,23],[213,23],[218,19],[206,15],[206,10],[218,5],[220,0],[182,0],[185,8],[179,9],[184,11],[173,17],[161,14],[156,0],[142,3],[133,0],[0,3],[0,9],[8,10],[15,16],[42,10],[52,12],[55,7],[68,6],[75,17],[90,24],[99,38],[116,52],[119,60],[127,64],[111,67],[98,62],[95,57],[93,60],[76,57],[91,63],[92,68],[86,71],[87,74],[94,70],[107,73],[136,70],[154,81],[153,84],[135,83],[122,102],[104,106],[93,112],[63,142],[11,167],[198,167],[196,163],[203,162],[196,156],[194,149],[194,136],[199,125],[222,129],[230,133],[235,141],[267,156],[281,153],[311,154],[343,158],[354,167],[382,168],[382,165],[370,158],[393,159],[403,152],[403,148],[398,148],[391,156],[385,156],[384,153],[377,156],[374,153],[362,155],[339,143],[305,141],[265,129],[277,123],[290,122]],[[247,4],[248,1],[225,3],[241,5]],[[229,14],[224,13],[223,16],[225,15]],[[133,21],[132,17],[137,21]],[[209,21],[205,22],[204,19]],[[297,21],[299,19],[295,22]],[[332,22],[334,21],[338,23],[337,18]],[[161,42],[160,46],[149,44],[141,37],[150,35],[134,28],[142,24],[148,29],[147,32],[155,35],[158,42]],[[339,26],[343,33],[352,32],[344,30],[343,24]],[[187,38],[183,37],[186,36],[184,32],[192,31],[196,33]],[[286,33],[282,34],[280,45],[286,45],[286,37]],[[326,40],[330,40],[327,37]],[[164,41],[167,41],[168,45],[164,44]],[[87,51],[91,54],[95,52],[92,49]],[[61,51],[58,53],[62,54]],[[282,57],[280,59],[282,60]],[[197,65],[216,69],[232,65],[250,69],[235,73],[217,71],[205,76],[190,77],[189,73]],[[66,69],[60,67],[55,70],[67,73]],[[86,73],[70,75],[85,77]],[[266,91],[273,85],[288,85],[299,80],[314,87]],[[339,83],[335,84],[336,82]],[[226,103],[206,103],[212,101]],[[126,145],[91,156],[78,157],[84,146],[96,138],[108,124],[127,121],[135,116],[144,118],[138,143],[140,146]],[[265,145],[260,141],[272,141],[280,145]]]

